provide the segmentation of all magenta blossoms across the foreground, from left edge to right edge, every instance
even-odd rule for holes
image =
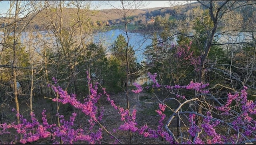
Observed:
[[[156,84],[156,76],[150,74],[150,78]],[[74,122],[76,121],[76,113],[74,112],[69,120],[65,120],[64,116],[61,114],[57,114],[56,116],[60,119],[60,124],[49,124],[46,119],[46,110],[42,111],[42,121],[38,121],[35,118],[34,113],[31,113],[30,121],[26,120],[22,115],[17,114],[20,116],[20,124],[16,123],[3,123],[0,125],[0,135],[10,133],[9,129],[15,129],[18,133],[16,135],[16,139],[18,139],[18,135],[22,135],[18,141],[20,143],[28,143],[34,142],[38,139],[48,139],[51,137],[52,142],[55,144],[60,143],[60,140],[63,144],[73,144],[79,141],[86,141],[89,144],[100,143],[102,139],[102,131],[105,129],[104,127],[96,128],[96,123],[100,123],[103,119],[103,111],[100,112],[100,116],[97,116],[98,107],[97,102],[102,95],[107,96],[107,100],[116,109],[116,111],[120,114],[120,121],[123,123],[118,127],[119,130],[122,131],[132,131],[133,133],[137,132],[144,137],[150,138],[164,138],[169,143],[177,143],[174,141],[174,137],[172,134],[164,129],[164,120],[166,118],[166,114],[164,111],[166,110],[166,104],[159,103],[159,109],[156,110],[156,113],[160,116],[160,120],[158,121],[157,129],[151,129],[148,125],[138,125],[136,122],[136,109],[132,111],[130,114],[130,110],[124,109],[120,106],[117,106],[110,98],[110,95],[107,94],[106,89],[102,88],[103,94],[98,92],[97,83],[93,86],[90,84],[90,95],[84,99],[84,103],[79,102],[76,99],[75,94],[69,95],[66,91],[62,90],[60,86],[57,86],[57,80],[53,78],[55,84],[49,85],[57,94],[57,97],[53,99],[54,102],[59,102],[62,104],[71,104],[75,108],[81,110],[86,116],[88,116],[88,127],[79,128],[76,127]],[[88,81],[90,78],[88,77]],[[138,90],[142,90],[143,88],[139,84],[134,84]],[[159,85],[159,84],[158,84]],[[158,86],[156,85],[156,86]],[[187,90],[196,90],[201,93],[209,93],[208,90],[205,90],[209,84],[203,84],[198,82],[191,81],[190,84],[180,86],[165,86],[168,89],[187,89]],[[247,100],[247,87],[241,90],[241,92],[236,92],[234,94],[227,94],[228,100],[226,104],[222,106],[216,106],[212,109],[217,109],[223,112],[223,115],[226,116],[233,116],[231,119],[228,120],[220,120],[212,117],[212,112],[206,112],[206,116],[203,114],[198,114],[197,112],[190,112],[188,115],[188,121],[190,125],[188,126],[188,133],[191,137],[194,137],[193,140],[182,141],[181,143],[186,144],[212,144],[212,143],[242,143],[242,141],[247,141],[248,138],[256,139],[256,121],[252,116],[256,115],[256,103],[252,100]],[[184,95],[177,94],[177,97],[184,98],[184,101],[188,101]],[[240,110],[240,112],[234,112],[232,105],[232,101],[235,100],[236,108]],[[14,110],[15,111],[15,110]],[[204,119],[201,124],[196,124],[196,116],[201,115]],[[234,131],[239,131],[239,134],[230,134],[230,135],[222,135],[218,133],[216,127],[219,125],[228,126]],[[110,131],[109,131],[110,132]],[[112,131],[113,133],[116,132],[116,129]],[[253,137],[254,135],[254,137]],[[114,136],[111,135],[110,138],[114,139]],[[247,139],[247,140],[246,140]],[[116,140],[115,140],[116,141]],[[11,143],[15,143],[12,141]]]

